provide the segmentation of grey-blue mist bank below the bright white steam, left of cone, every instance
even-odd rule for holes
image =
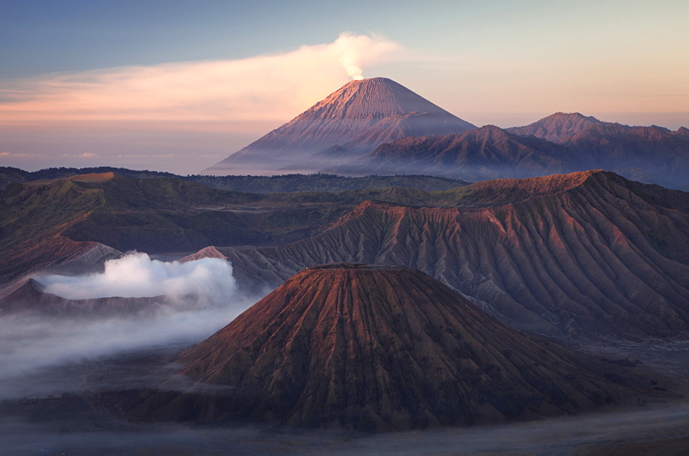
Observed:
[[[0,399],[60,388],[45,368],[122,353],[189,346],[223,328],[254,303],[234,295],[225,306],[157,308],[153,315],[0,318]],[[68,388],[65,386],[65,388]],[[66,390],[69,390],[66,389]]]

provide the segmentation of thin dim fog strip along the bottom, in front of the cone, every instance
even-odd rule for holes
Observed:
[[[618,440],[685,437],[688,425],[689,407],[686,404],[500,426],[380,435],[174,424],[129,424],[116,430],[83,432],[65,431],[54,424],[2,419],[0,454],[570,455],[582,447]]]

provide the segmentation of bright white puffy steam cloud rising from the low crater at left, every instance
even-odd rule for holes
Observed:
[[[105,271],[76,277],[49,275],[37,280],[45,293],[67,299],[102,297],[185,297],[220,303],[236,293],[232,265],[218,258],[165,262],[130,253],[105,262]]]

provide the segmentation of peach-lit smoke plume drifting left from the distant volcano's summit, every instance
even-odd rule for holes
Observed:
[[[54,73],[6,84],[0,123],[285,121],[362,77],[362,67],[403,52],[378,34],[343,32],[331,43],[247,59]]]

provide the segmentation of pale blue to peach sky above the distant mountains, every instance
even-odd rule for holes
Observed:
[[[185,150],[208,132],[208,141],[202,141],[207,162],[198,166],[204,168],[345,83],[341,68],[336,75],[327,66],[338,67],[336,59],[325,59],[321,67],[302,60],[305,54],[325,52],[318,46],[337,47],[342,32],[379,37],[396,47],[388,52],[391,47],[381,44],[370,53],[356,48],[364,77],[395,79],[478,125],[506,127],[555,111],[579,111],[608,121],[675,129],[689,125],[688,17],[686,0],[0,0],[0,163],[71,166],[86,157],[83,166],[153,166],[159,150],[174,150],[174,163],[182,163]],[[306,50],[297,52],[302,46]],[[165,121],[178,127],[163,141],[170,128],[151,124],[147,130],[140,114],[127,117],[136,121],[132,132],[121,123],[122,109],[108,117],[105,101],[94,97],[96,90],[107,92],[108,84],[121,79],[118,68],[143,67],[136,76],[141,77],[148,74],[146,68],[157,71],[168,63],[183,63],[184,68],[207,61],[245,65],[265,55],[287,56],[305,71],[285,82],[285,93],[297,94],[294,103],[278,97],[274,109],[265,104],[276,97],[271,90],[279,88],[279,74],[269,75],[266,86],[271,90],[266,93],[257,86],[243,92],[242,106],[265,112],[260,119],[240,119],[225,110],[220,115],[217,106],[200,113],[200,104],[208,101],[185,115],[183,103],[177,103],[176,117],[167,115]],[[289,65],[282,61],[275,68],[285,72]],[[90,70],[99,72],[94,76]],[[127,72],[127,78],[135,76]],[[99,85],[89,88],[87,99],[83,88],[91,80]],[[227,77],[227,87],[245,82]],[[211,90],[205,80],[203,86]],[[63,92],[57,94],[58,88]],[[57,106],[58,98],[61,106],[71,103],[67,114],[65,109],[39,108],[39,102]],[[249,106],[252,99],[262,101]],[[232,100],[228,103],[238,98]],[[156,111],[153,104],[145,112],[161,121],[170,105],[161,104]],[[88,121],[88,112],[99,113],[91,119],[97,125]],[[206,123],[199,126],[202,118]],[[196,123],[181,125],[189,119]],[[224,123],[231,127],[223,130]],[[50,145],[58,152],[46,152]],[[132,157],[137,155],[152,158],[136,161]],[[194,162],[199,160],[196,155]],[[174,166],[179,172],[181,166]]]

